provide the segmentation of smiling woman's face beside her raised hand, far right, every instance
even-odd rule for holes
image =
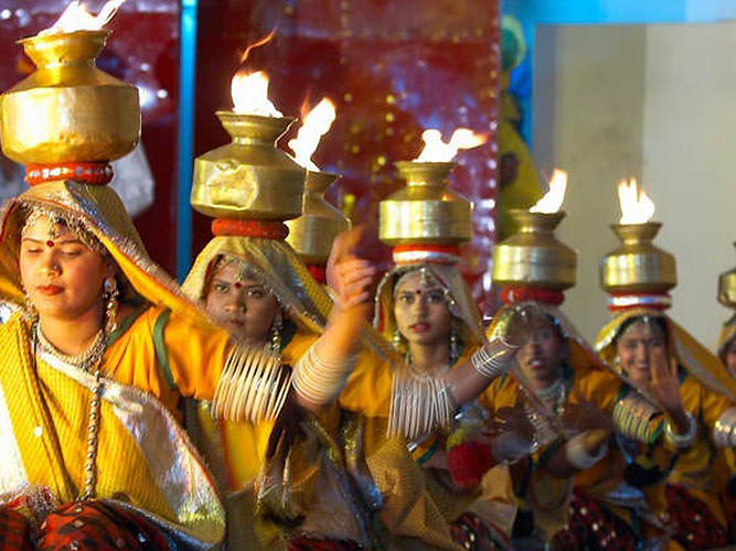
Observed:
[[[616,352],[629,379],[646,383],[651,379],[652,354],[666,356],[666,337],[657,325],[634,322],[616,342]]]

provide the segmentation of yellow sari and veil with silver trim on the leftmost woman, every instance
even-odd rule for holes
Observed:
[[[9,202],[0,231],[0,293],[22,304],[18,273],[25,208],[81,222],[117,262],[122,299],[141,306],[113,335],[103,358],[96,497],[143,514],[174,539],[218,544],[224,511],[199,455],[177,423],[179,392],[211,398],[231,349],[225,332],[147,257],[113,190],[74,182],[32,187]],[[185,336],[185,338],[184,338]],[[0,504],[25,496],[30,515],[81,497],[94,377],[36,350],[29,322],[0,326]],[[158,350],[158,352],[157,352]],[[169,353],[167,355],[167,352]],[[45,512],[44,512],[45,511]]]

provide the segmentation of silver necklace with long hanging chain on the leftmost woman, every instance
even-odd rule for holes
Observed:
[[[87,424],[87,455],[84,466],[84,493],[79,500],[86,501],[94,499],[95,488],[97,486],[97,449],[99,441],[99,413],[103,397],[103,375],[102,359],[107,348],[107,338],[105,332],[99,329],[89,347],[77,356],[70,356],[62,353],[51,344],[39,328],[39,324],[33,325],[33,342],[38,352],[44,352],[66,364],[78,367],[90,372],[95,377],[95,383],[92,388],[92,401],[89,402],[89,422]],[[94,366],[94,369],[92,369]]]

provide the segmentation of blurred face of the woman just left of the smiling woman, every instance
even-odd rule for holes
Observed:
[[[564,343],[553,321],[535,315],[530,322],[529,341],[519,349],[519,368],[529,379],[548,379],[557,374]]]

